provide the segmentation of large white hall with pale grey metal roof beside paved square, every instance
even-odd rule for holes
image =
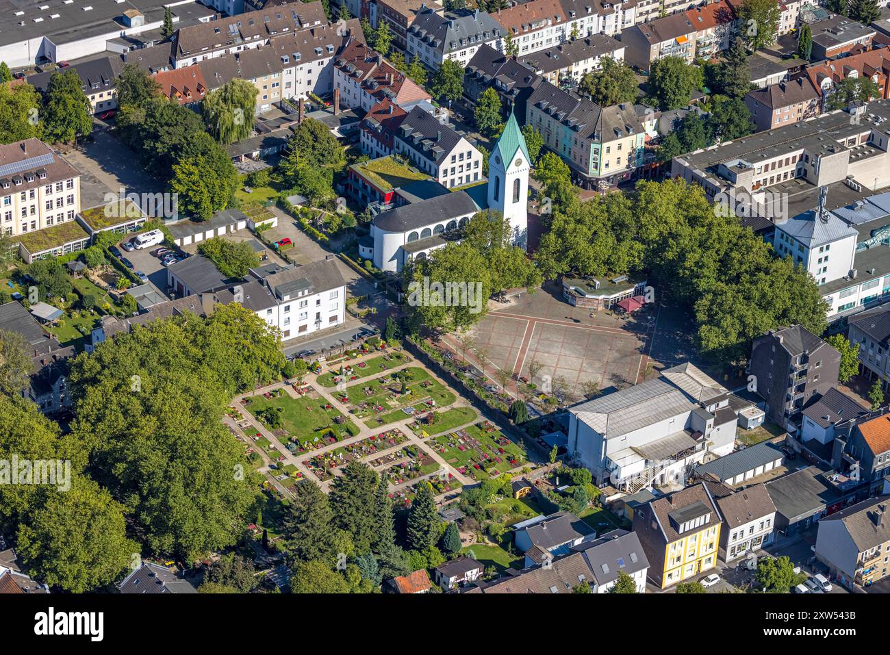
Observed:
[[[692,364],[569,408],[569,457],[596,484],[634,493],[683,485],[706,455],[732,452],[729,392]]]

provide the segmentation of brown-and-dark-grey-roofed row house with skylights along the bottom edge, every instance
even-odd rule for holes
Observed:
[[[635,532],[611,530],[600,538],[583,541],[570,553],[546,566],[535,565],[493,582],[478,582],[471,594],[572,594],[583,583],[592,594],[607,594],[620,572],[635,583],[637,594],[646,590],[649,561]]]

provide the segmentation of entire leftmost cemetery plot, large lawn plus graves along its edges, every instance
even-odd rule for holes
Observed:
[[[320,448],[359,433],[352,421],[321,398],[312,387],[295,389],[297,398],[276,389],[241,402],[256,420],[294,452]]]

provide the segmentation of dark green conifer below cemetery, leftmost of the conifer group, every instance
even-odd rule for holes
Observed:
[[[298,481],[281,525],[288,562],[334,562],[332,521],[328,495],[311,480]]]

